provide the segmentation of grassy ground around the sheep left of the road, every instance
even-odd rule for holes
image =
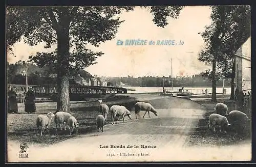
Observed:
[[[105,103],[109,105],[124,105],[127,109],[132,109],[137,102],[135,98],[129,96],[112,96],[104,99]],[[48,106],[45,106],[47,108]],[[7,135],[10,140],[17,140],[19,142],[26,143],[39,143],[42,145],[49,145],[57,143],[68,138],[76,137],[77,135],[69,135],[69,130],[58,131],[55,134],[54,120],[52,120],[49,131],[50,134],[37,135],[37,129],[35,120],[38,115],[47,114],[48,112],[54,112],[54,110],[44,109],[41,107],[35,114],[27,114],[20,112],[21,114],[8,114],[7,115]],[[99,115],[98,105],[73,107],[70,112],[79,122],[79,134],[87,134],[96,131],[95,118]],[[110,123],[110,117],[106,123]]]

